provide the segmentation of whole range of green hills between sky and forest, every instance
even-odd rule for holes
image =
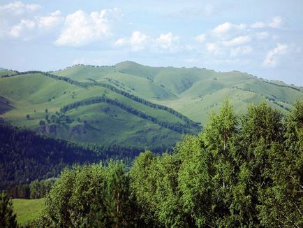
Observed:
[[[0,78],[0,116],[83,143],[156,147],[196,134],[228,97],[237,113],[260,101],[288,113],[302,87],[239,71],[76,65],[54,72],[10,71]]]

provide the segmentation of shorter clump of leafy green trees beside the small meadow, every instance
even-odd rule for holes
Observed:
[[[128,176],[121,162],[66,169],[45,199],[38,224],[50,227],[132,227]]]

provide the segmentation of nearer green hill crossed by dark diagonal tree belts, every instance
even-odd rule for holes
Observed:
[[[200,130],[184,115],[108,83],[32,71],[0,78],[0,91],[1,117],[11,124],[84,143],[153,148]]]

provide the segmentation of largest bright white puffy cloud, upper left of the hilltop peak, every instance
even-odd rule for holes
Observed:
[[[64,29],[55,44],[81,46],[110,36],[110,20],[117,10],[117,8],[101,10],[101,12],[91,12],[89,15],[83,10],[78,10],[67,15]]]

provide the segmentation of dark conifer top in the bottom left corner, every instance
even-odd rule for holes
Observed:
[[[6,192],[0,194],[0,227],[17,227],[16,215],[13,213],[13,202]]]

